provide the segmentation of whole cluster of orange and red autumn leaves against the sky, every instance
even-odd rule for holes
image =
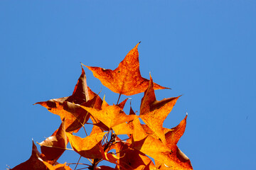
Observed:
[[[86,67],[104,86],[119,94],[119,98],[122,94],[131,96],[144,92],[139,115],[134,113],[132,106],[129,115],[124,113],[127,99],[121,103],[118,99],[116,105],[108,105],[105,98],[102,100],[87,86],[82,68],[71,96],[36,103],[59,115],[62,123],[53,135],[38,143],[42,153],[38,152],[33,142],[31,157],[13,170],[71,169],[70,164],[57,162],[67,149],[68,142],[80,158],[89,160],[90,164],[80,163],[84,165],[82,169],[193,169],[188,157],[177,147],[186,128],[187,115],[175,128],[163,128],[164,120],[179,96],[156,101],[154,90],[168,88],[155,84],[151,76],[150,80],[141,76],[138,45],[127,54],[117,69]],[[92,121],[92,130],[87,135],[85,124],[90,124],[89,119]],[[85,130],[87,137],[74,135],[80,128]],[[119,135],[127,135],[127,139],[122,140]],[[102,160],[115,164],[115,167],[100,166]]]

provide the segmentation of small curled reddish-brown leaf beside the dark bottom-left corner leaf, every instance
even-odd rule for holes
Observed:
[[[41,152],[46,157],[47,161],[56,162],[63,154],[68,144],[67,136],[65,134],[65,120],[60,124],[57,132],[52,136],[46,138],[41,145]]]

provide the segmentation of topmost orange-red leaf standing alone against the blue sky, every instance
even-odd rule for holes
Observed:
[[[149,80],[144,79],[139,71],[139,43],[129,51],[127,56],[119,63],[117,69],[102,69],[101,67],[90,67],[93,75],[100,79],[102,84],[117,94],[131,96],[142,93],[149,86]],[[154,84],[154,89],[169,89]]]

